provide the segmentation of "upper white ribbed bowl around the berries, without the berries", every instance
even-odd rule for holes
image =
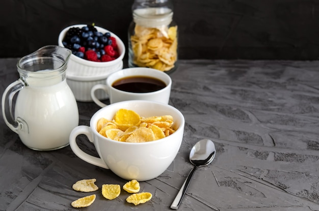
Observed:
[[[70,25],[69,27],[62,30],[60,32],[59,39],[58,39],[59,46],[64,47],[64,45],[62,44],[62,40],[70,28],[72,27],[82,28],[85,26],[86,24]],[[103,34],[106,32],[110,32],[101,27],[95,26],[95,28],[97,29],[98,32],[101,32]],[[116,36],[112,32],[110,33],[111,33],[111,36],[115,37],[116,39],[120,56],[117,59],[110,62],[92,62],[85,59],[81,59],[72,54],[68,61],[68,67],[66,71],[67,77],[68,76],[97,76],[97,75],[105,76],[118,70],[117,67],[119,66],[119,63],[123,62],[122,60],[125,55],[125,45],[118,36]]]

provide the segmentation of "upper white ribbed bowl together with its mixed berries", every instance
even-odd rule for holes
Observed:
[[[123,63],[125,46],[112,32],[89,24],[70,25],[61,31],[59,46],[72,50],[67,75],[97,76],[114,72]]]

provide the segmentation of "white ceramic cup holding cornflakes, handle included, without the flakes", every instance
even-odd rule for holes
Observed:
[[[115,141],[98,133],[98,121],[101,118],[112,120],[120,109],[134,111],[144,118],[170,115],[174,132],[164,138],[142,143]],[[163,174],[171,165],[179,151],[183,131],[184,117],[171,105],[149,100],[128,100],[110,104],[97,111],[90,120],[90,126],[75,127],[70,134],[70,147],[80,159],[110,169],[123,179],[145,181]],[[76,137],[82,134],[94,144],[99,157],[79,148]]]

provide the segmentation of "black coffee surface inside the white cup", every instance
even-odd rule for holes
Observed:
[[[166,84],[154,77],[129,76],[115,81],[112,87],[125,92],[146,93],[161,90]]]

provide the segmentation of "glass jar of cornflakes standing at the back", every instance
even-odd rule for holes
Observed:
[[[178,30],[171,0],[135,0],[128,29],[128,66],[177,68]]]

